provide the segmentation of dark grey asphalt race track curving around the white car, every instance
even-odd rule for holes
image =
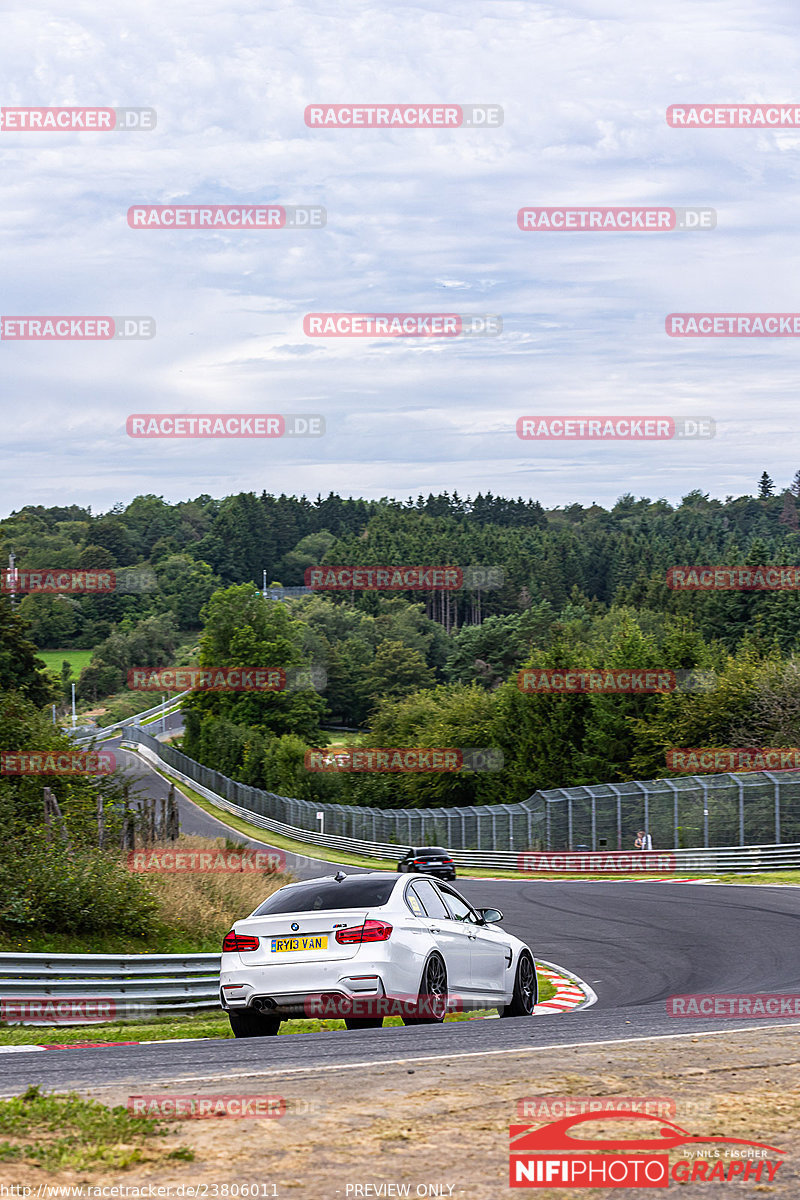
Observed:
[[[163,779],[138,761],[132,769],[142,776],[143,787],[164,794]],[[231,835],[187,802],[181,802],[181,822],[186,833]],[[332,864],[287,857],[289,869],[306,877],[332,869]],[[116,1082],[223,1082],[279,1072],[323,1073],[344,1064],[513,1054],[535,1046],[757,1025],[800,1028],[793,1018],[674,1019],[666,1012],[667,997],[679,994],[800,992],[800,888],[457,882],[474,904],[501,908],[505,925],[525,938],[536,956],[590,984],[597,1003],[557,1015],[445,1026],[4,1054],[0,1090],[8,1096],[29,1084],[66,1090]]]

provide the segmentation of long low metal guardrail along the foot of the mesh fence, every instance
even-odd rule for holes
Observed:
[[[140,731],[137,731],[140,733]],[[139,743],[142,739],[137,739]],[[306,842],[311,846],[324,846],[330,850],[350,851],[356,854],[365,854],[368,858],[396,863],[402,857],[401,846],[397,842],[366,841],[360,838],[343,838],[338,834],[314,833],[309,829],[301,829],[297,826],[265,817],[253,809],[243,808],[233,800],[219,796],[210,787],[197,782],[192,776],[174,767],[168,760],[166,751],[175,755],[172,748],[163,746],[155,738],[149,739],[150,744],[142,745],[143,757],[152,763],[158,763],[172,779],[190,785],[199,796],[209,800],[216,808],[234,816],[242,817],[251,824],[258,826],[266,832],[283,834],[295,841]],[[181,755],[186,758],[186,755]],[[192,760],[188,760],[190,762]],[[519,871],[523,875],[536,875],[542,871],[563,871],[565,874],[599,872],[613,874],[637,874],[657,872],[670,874],[687,871],[710,871],[715,874],[747,872],[800,869],[800,844],[799,845],[765,845],[765,846],[721,846],[714,850],[663,850],[643,853],[640,851],[606,851],[601,853],[581,853],[575,851],[464,851],[450,850],[457,866],[474,868],[479,870],[504,870]]]

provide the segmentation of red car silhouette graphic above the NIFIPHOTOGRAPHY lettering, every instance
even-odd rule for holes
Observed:
[[[652,1121],[658,1126],[658,1133],[654,1138],[616,1138],[593,1139],[573,1138],[570,1130],[573,1126],[583,1124],[585,1121]],[[664,1121],[663,1117],[654,1117],[646,1112],[624,1112],[609,1109],[606,1112],[583,1112],[573,1117],[563,1117],[560,1121],[552,1121],[546,1126],[511,1126],[509,1130],[511,1138],[511,1153],[527,1154],[540,1151],[587,1151],[587,1150],[649,1150],[664,1151],[675,1146],[691,1144],[708,1145],[709,1142],[724,1142],[730,1146],[757,1146],[759,1150],[768,1150],[774,1154],[782,1154],[783,1151],[776,1146],[768,1146],[763,1141],[748,1141],[746,1138],[696,1138],[693,1134]]]

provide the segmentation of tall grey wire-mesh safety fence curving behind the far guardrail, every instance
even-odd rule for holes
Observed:
[[[139,727],[132,727],[130,737],[140,745],[156,745]],[[305,830],[305,841],[321,832],[391,846],[513,854],[565,846],[622,850],[633,846],[638,829],[645,829],[660,850],[800,844],[800,770],[587,784],[534,792],[515,804],[377,809],[278,796],[228,779],[174,746],[157,752],[193,784],[249,812]]]

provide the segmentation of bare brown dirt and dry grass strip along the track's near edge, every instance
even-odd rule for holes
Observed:
[[[269,1045],[265,1039],[265,1061]],[[379,1051],[375,1057],[380,1057]],[[265,1198],[360,1200],[405,1194],[498,1200],[519,1194],[509,1189],[509,1126],[543,1123],[518,1115],[522,1097],[619,1096],[674,1100],[670,1120],[692,1134],[742,1138],[784,1152],[771,1183],[765,1175],[760,1181],[751,1178],[739,1182],[734,1194],[800,1194],[796,1028],[765,1027],[711,1037],[533,1049],[427,1062],[409,1058],[387,1066],[289,1070],[248,1075],[245,1080],[223,1076],[191,1088],[181,1088],[180,1084],[168,1090],[149,1088],[145,1081],[136,1080],[130,1087],[86,1094],[107,1104],[125,1104],[130,1094],[148,1091],[174,1096],[190,1091],[198,1096],[279,1094],[287,1111],[279,1120],[176,1121],[164,1150],[191,1147],[196,1154],[191,1163],[167,1165],[162,1160],[133,1165],[116,1175],[66,1171],[58,1177],[23,1164],[0,1163],[0,1182],[132,1188],[170,1183],[184,1184],[184,1195],[190,1195],[188,1184],[207,1184],[209,1200],[236,1200],[234,1184],[257,1183],[265,1184],[260,1189]],[[597,1130],[595,1126],[593,1135]],[[619,1133],[619,1122],[604,1123],[602,1135]],[[718,1148],[724,1147],[720,1144]],[[686,1151],[694,1153],[693,1147]],[[673,1151],[670,1160],[676,1162],[684,1153]],[[395,1187],[381,1189],[381,1184]],[[402,1190],[405,1186],[408,1192]],[[670,1187],[679,1184],[670,1182]],[[547,1200],[575,1200],[619,1195],[620,1189],[537,1188],[535,1194]],[[651,1198],[654,1193],[651,1188],[627,1188],[625,1194]],[[688,1200],[718,1195],[720,1183],[698,1180],[682,1184],[680,1194]],[[89,1198],[90,1193],[84,1189],[84,1195]],[[173,1195],[180,1192],[173,1189]],[[197,1195],[203,1200],[201,1190]]]

